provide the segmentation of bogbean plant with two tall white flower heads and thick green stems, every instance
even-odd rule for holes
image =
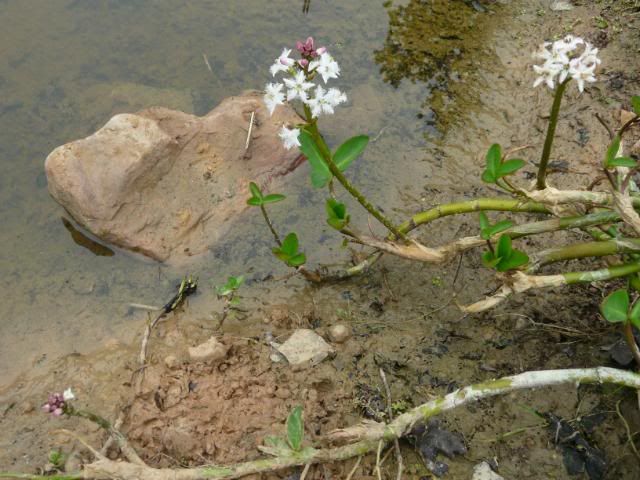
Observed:
[[[534,65],[537,74],[533,86],[546,85],[553,93],[553,102],[546,137],[540,157],[535,185],[518,185],[517,174],[527,162],[520,158],[508,158],[499,144],[492,145],[486,155],[486,165],[482,181],[495,185],[511,198],[477,198],[475,200],[439,205],[420,212],[403,223],[396,223],[386,217],[347,179],[345,171],[365,150],[366,135],[354,136],[335,149],[331,149],[319,130],[318,119],[334,113],[334,109],[347,101],[347,96],[337,88],[329,88],[327,83],[338,78],[340,67],[325,47],[317,48],[313,38],[297,42],[299,58],[292,58],[292,49],[284,48],[281,55],[271,65],[274,78],[283,76],[281,82],[266,85],[264,102],[271,114],[280,105],[298,101],[302,106],[301,121],[296,125],[283,125],[279,136],[285,148],[298,148],[307,158],[311,184],[315,188],[327,189],[325,210],[329,226],[342,233],[346,240],[373,247],[373,252],[361,264],[346,269],[339,277],[360,273],[377,261],[383,254],[391,253],[415,261],[444,263],[471,248],[486,247],[482,254],[483,264],[495,270],[502,287],[492,297],[462,307],[466,312],[479,312],[491,308],[509,296],[531,288],[557,287],[574,283],[624,278],[629,288],[640,291],[640,193],[633,181],[638,171],[638,159],[623,154],[623,137],[633,125],[640,124],[640,96],[631,99],[634,115],[614,131],[605,124],[611,142],[603,153],[601,176],[608,182],[608,190],[593,191],[562,190],[548,185],[547,171],[551,159],[553,141],[558,124],[562,100],[569,91],[570,83],[577,84],[578,94],[582,94],[589,83],[596,81],[596,71],[601,63],[598,49],[580,37],[568,35],[554,42],[541,45],[535,58],[542,62]],[[604,122],[603,122],[604,123]],[[371,238],[359,233],[351,224],[351,215],[339,200],[335,184],[344,187],[360,205],[388,231],[384,239]],[[280,239],[271,222],[266,205],[285,199],[281,194],[265,195],[251,183],[249,205],[259,207],[276,242],[274,255],[286,265],[296,268],[310,280],[335,278],[320,272],[311,272],[304,267],[306,256],[300,251],[298,236],[291,232]],[[548,219],[516,224],[510,219],[498,219],[495,223],[485,212],[508,212],[543,214]],[[466,237],[440,246],[421,244],[408,234],[434,220],[451,215],[480,212],[479,235]],[[571,245],[554,246],[540,252],[525,253],[513,246],[513,241],[541,233],[559,230],[580,230],[589,234],[592,241]],[[607,256],[607,265],[598,270],[562,272],[554,275],[537,275],[545,265],[566,260],[598,258]],[[624,290],[629,297],[629,290]],[[622,293],[618,293],[622,296]],[[614,297],[619,299],[618,296]],[[604,317],[612,322],[625,325],[625,338],[640,364],[632,326],[640,328],[631,310],[628,317],[622,314],[611,316],[611,297],[604,302]],[[640,307],[639,307],[640,308]]]

